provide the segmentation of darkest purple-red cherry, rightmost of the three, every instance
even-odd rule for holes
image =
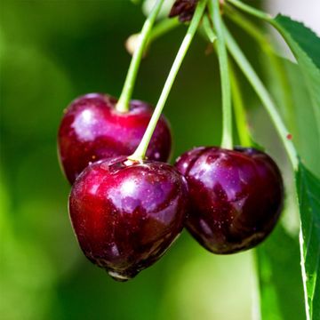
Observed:
[[[250,249],[275,227],[284,184],[276,163],[253,148],[195,148],[176,162],[188,181],[187,228],[214,253]]]

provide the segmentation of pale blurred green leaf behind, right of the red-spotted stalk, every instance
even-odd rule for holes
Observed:
[[[285,124],[298,150],[303,164],[320,177],[320,148],[315,148],[320,137],[317,134],[316,117],[308,88],[301,82],[302,72],[296,63],[277,55],[272,60],[263,55],[264,71],[268,79],[268,90],[284,117]],[[272,64],[273,63],[273,64]],[[276,68],[270,68],[270,65]]]

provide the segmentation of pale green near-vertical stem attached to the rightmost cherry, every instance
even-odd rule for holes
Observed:
[[[228,70],[228,52],[223,33],[223,22],[220,15],[219,0],[209,2],[209,12],[212,17],[213,26],[218,36],[217,52],[220,67],[221,91],[222,91],[222,148],[233,148],[232,141],[232,105],[231,86]]]

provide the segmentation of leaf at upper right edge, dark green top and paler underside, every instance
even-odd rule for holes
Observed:
[[[318,136],[317,145],[320,148],[320,39],[302,23],[291,20],[283,15],[276,16],[272,24],[284,36],[300,66],[304,83],[307,85],[314,116],[316,118]],[[301,106],[308,108],[308,106]]]

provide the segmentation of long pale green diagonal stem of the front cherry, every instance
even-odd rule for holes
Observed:
[[[150,122],[148,124],[147,130],[144,133],[142,140],[140,141],[140,145],[135,150],[132,156],[129,156],[129,159],[132,161],[142,161],[146,155],[148,144],[151,140],[152,134],[156,129],[156,124],[161,116],[162,110],[164,108],[164,104],[166,100],[168,99],[169,93],[172,89],[172,84],[174,83],[174,80],[178,74],[178,71],[180,69],[180,66],[182,64],[182,61],[184,60],[188,48],[192,42],[193,37],[196,34],[196,29],[198,28],[200,24],[200,20],[202,16],[204,15],[204,9],[206,6],[207,0],[200,0],[200,2],[196,6],[196,12],[194,13],[194,16],[190,22],[190,25],[188,27],[188,31],[186,36],[183,38],[183,41],[180,45],[180,49],[176,55],[175,60],[173,61],[172,68],[169,72],[169,75],[165,81],[164,89],[161,92],[160,98],[156,104],[155,111],[150,119]]]

